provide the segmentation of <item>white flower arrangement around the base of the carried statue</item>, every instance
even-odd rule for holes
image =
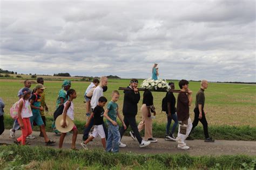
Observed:
[[[169,91],[170,86],[166,82],[166,80],[163,79],[158,79],[158,80],[153,80],[153,79],[145,79],[140,86],[143,89],[148,89],[151,91]]]

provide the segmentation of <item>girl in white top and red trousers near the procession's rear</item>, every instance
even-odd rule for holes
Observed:
[[[29,88],[22,89],[22,97],[19,99],[18,103],[18,123],[22,129],[21,137],[14,140],[16,144],[26,144],[26,137],[32,133],[32,128],[29,118],[32,116],[32,111],[29,104],[29,98],[31,96],[31,90]]]

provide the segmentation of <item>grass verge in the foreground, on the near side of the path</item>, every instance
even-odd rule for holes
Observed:
[[[256,157],[223,155],[192,157],[187,154],[106,153],[47,147],[1,146],[0,168],[6,169],[254,169]]]

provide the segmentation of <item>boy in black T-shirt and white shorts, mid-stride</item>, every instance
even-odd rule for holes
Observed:
[[[107,102],[106,97],[104,97],[104,96],[99,97],[98,105],[93,109],[90,118],[88,119],[88,121],[85,124],[85,127],[87,128],[87,126],[89,126],[89,124],[90,124],[91,119],[94,116],[95,128],[92,132],[92,136],[90,136],[87,140],[85,140],[84,142],[81,143],[81,145],[83,146],[83,148],[85,150],[88,150],[87,143],[89,143],[89,141],[91,141],[92,139],[96,138],[98,135],[100,136],[100,138],[102,138],[102,145],[103,145],[104,149],[106,148],[105,132],[103,129],[103,123],[104,123],[103,122],[103,116],[104,116],[103,107],[105,106],[106,102]]]

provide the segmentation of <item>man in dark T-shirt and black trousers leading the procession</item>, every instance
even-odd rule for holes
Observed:
[[[204,91],[208,87],[208,82],[206,80],[201,81],[201,88],[199,89],[197,96],[196,96],[196,108],[194,108],[194,121],[193,121],[193,127],[196,128],[198,125],[198,122],[200,121],[201,124],[203,124],[204,128],[204,134],[205,134],[205,141],[206,142],[214,142],[212,138],[209,137],[208,134],[208,123],[206,121],[206,112],[204,111],[204,105],[205,105],[205,94]],[[191,131],[192,131],[191,130]],[[193,140],[192,137],[188,136],[187,140]]]

